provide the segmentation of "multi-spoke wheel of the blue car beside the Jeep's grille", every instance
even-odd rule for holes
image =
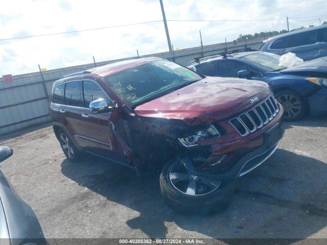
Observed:
[[[284,118],[286,121],[298,120],[306,114],[306,102],[295,91],[285,89],[277,92],[275,97],[284,108]]]

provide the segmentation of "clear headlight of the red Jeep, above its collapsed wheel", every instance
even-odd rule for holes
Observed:
[[[196,131],[193,135],[185,138],[178,138],[178,140],[185,147],[190,147],[197,145],[195,142],[198,140],[219,137],[220,135],[220,132],[216,129],[215,126],[209,125],[204,130]]]

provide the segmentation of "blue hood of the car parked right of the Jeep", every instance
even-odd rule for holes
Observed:
[[[297,76],[317,76],[320,74],[320,76],[327,77],[327,57],[306,61],[281,70],[281,72]]]

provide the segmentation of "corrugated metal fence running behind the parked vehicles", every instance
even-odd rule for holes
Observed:
[[[247,47],[258,49],[263,39],[251,39],[247,41]],[[186,48],[173,53],[157,53],[147,56],[158,56],[173,60],[179,64],[187,65],[194,58],[244,48],[244,42],[237,45],[232,42],[206,45],[201,47]],[[98,66],[118,60],[97,63]],[[62,76],[71,74],[85,68],[94,67],[94,64],[79,65],[43,72],[43,79],[39,72],[14,76],[14,82],[7,84],[0,79],[0,135],[14,132],[32,125],[49,122],[48,94],[54,81]],[[45,85],[45,86],[44,86]]]

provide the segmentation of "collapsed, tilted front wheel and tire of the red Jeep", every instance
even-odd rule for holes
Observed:
[[[210,214],[225,210],[231,202],[236,181],[221,182],[221,180],[200,176],[198,172],[194,176],[189,172],[190,169],[184,171],[185,173],[182,173],[183,170],[176,173],[176,169],[183,166],[182,161],[180,158],[175,158],[162,168],[160,189],[167,205],[183,214]],[[177,187],[172,178],[180,178],[179,186],[183,186],[182,182],[184,182],[185,188]],[[205,188],[205,184],[212,187]]]

